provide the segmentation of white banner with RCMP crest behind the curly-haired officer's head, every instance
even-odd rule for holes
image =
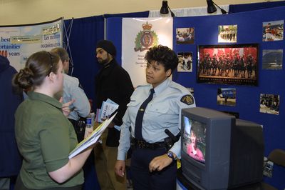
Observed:
[[[172,49],[172,18],[123,18],[122,66],[136,87],[145,84],[145,54],[159,44]]]

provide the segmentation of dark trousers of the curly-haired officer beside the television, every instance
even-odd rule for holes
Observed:
[[[166,154],[166,149],[133,149],[131,159],[131,173],[134,190],[175,190],[177,162],[162,169],[162,171],[152,171],[148,166],[150,161],[156,156]]]

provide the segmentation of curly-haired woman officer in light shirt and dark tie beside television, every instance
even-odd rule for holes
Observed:
[[[175,189],[175,160],[181,151],[180,113],[181,109],[195,107],[195,99],[190,91],[170,79],[178,65],[175,51],[154,46],[145,54],[145,60],[148,84],[138,86],[127,105],[115,173],[125,175],[125,156],[131,145],[134,189]],[[143,107],[153,90],[152,100]]]

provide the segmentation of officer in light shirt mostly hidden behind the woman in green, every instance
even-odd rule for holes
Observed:
[[[74,101],[71,104],[71,113],[68,115],[69,121],[74,126],[78,141],[83,140],[84,130],[80,131],[78,129],[78,120],[80,117],[87,117],[90,114],[90,103],[89,100],[81,86],[79,80],[76,77],[69,76],[69,56],[66,49],[57,47],[51,50],[51,52],[58,54],[63,63],[64,75],[63,75],[63,103],[68,101]]]

